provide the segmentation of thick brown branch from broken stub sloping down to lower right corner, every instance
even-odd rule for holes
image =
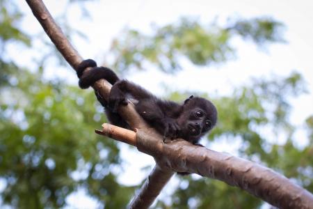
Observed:
[[[123,128],[104,124],[102,134],[110,135],[114,139],[115,136],[120,137],[118,132],[123,132]],[[127,138],[129,136],[124,139],[129,144]],[[131,141],[136,141],[138,150],[152,155],[162,170],[198,173],[200,176],[222,180],[278,208],[310,209],[313,206],[313,195],[310,192],[255,162],[193,146],[184,140],[164,144],[159,140],[159,135],[154,135],[149,129],[138,130],[136,138],[133,132],[130,138]]]

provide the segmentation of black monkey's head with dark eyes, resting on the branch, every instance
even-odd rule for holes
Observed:
[[[182,108],[182,114],[177,118],[182,135],[180,137],[198,143],[200,137],[216,125],[216,107],[209,100],[191,96],[185,100]]]

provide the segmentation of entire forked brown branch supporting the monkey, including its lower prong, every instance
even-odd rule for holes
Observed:
[[[81,56],[67,41],[61,29],[56,25],[41,0],[26,0],[33,10],[47,35],[74,69],[81,62]],[[102,97],[107,98],[111,85],[104,79],[93,86]],[[104,128],[102,134],[118,135],[121,141],[131,141],[138,150],[152,155],[157,161],[149,178],[135,196],[130,208],[147,208],[168,182],[173,171],[198,173],[201,176],[223,180],[229,185],[245,189],[250,194],[268,201],[279,208],[312,208],[313,195],[307,190],[291,183],[271,169],[261,167],[253,162],[218,153],[207,148],[193,146],[184,140],[175,140],[164,144],[162,137],[153,129],[149,129],[145,121],[138,116],[133,105],[119,109],[120,115],[133,127],[133,132],[120,132],[120,127]],[[112,132],[112,130],[115,131]],[[97,131],[99,133],[99,131]],[[123,136],[127,137],[123,137]],[[136,136],[136,137],[135,137]]]

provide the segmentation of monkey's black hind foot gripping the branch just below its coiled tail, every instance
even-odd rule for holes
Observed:
[[[113,112],[117,112],[118,106],[120,104],[126,106],[128,104],[128,102],[126,100],[125,93],[120,90],[118,83],[117,83],[117,84],[113,85],[111,88],[111,92],[109,95],[109,108]]]

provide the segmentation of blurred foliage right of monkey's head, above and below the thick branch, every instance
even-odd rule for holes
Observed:
[[[312,192],[313,146],[312,143],[305,148],[295,146],[296,127],[289,123],[289,99],[305,92],[303,78],[294,72],[287,78],[255,79],[251,86],[235,89],[233,97],[216,98],[218,125],[209,134],[209,140],[216,143],[225,140],[227,144],[239,141],[239,156],[265,164]],[[307,119],[307,127],[312,134],[312,117]],[[285,134],[284,141],[271,139],[280,137],[279,134]],[[188,208],[193,204],[192,208],[262,206],[262,201],[241,189],[206,178],[184,178],[173,196],[172,208]],[[167,207],[161,203],[159,206]]]

